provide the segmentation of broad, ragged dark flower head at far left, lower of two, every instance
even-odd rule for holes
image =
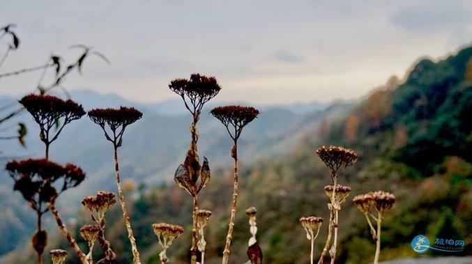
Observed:
[[[78,166],[61,166],[45,159],[14,160],[6,164],[6,171],[15,180],[14,189],[21,192],[34,210],[42,207],[40,203],[54,201],[59,193],[76,187],[85,179],[85,173]],[[59,192],[52,185],[58,180],[63,180]]]

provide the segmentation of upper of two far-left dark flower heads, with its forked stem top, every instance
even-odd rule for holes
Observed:
[[[46,146],[46,159],[49,158],[50,144],[59,137],[64,126],[85,114],[82,105],[52,95],[26,95],[20,100],[20,104],[39,125],[40,139]]]

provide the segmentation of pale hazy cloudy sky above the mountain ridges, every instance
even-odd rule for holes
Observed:
[[[0,72],[43,63],[70,45],[93,45],[70,90],[130,100],[176,98],[167,84],[214,75],[218,100],[258,104],[365,95],[420,56],[472,43],[472,1],[20,1],[1,0],[0,25],[22,43]],[[6,43],[1,40],[0,53]],[[0,94],[31,91],[38,73],[0,79]]]

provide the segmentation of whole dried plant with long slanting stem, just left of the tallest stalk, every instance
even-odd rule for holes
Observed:
[[[125,226],[128,230],[128,239],[130,240],[133,263],[139,264],[139,251],[137,250],[135,236],[132,233],[130,217],[125,205],[125,197],[121,190],[120,169],[118,163],[118,148],[123,143],[123,133],[125,128],[132,123],[135,123],[142,118],[142,112],[132,107],[120,107],[119,109],[93,109],[89,111],[89,118],[94,123],[102,127],[105,133],[105,138],[113,143],[114,149],[114,164],[115,164],[115,178],[118,194],[120,196],[121,210],[123,210],[123,218]]]

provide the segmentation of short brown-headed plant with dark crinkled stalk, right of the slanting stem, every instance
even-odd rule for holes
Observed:
[[[112,250],[110,242],[105,239],[105,228],[107,226],[105,216],[107,215],[107,210],[115,203],[115,194],[105,191],[98,192],[96,196],[86,196],[82,199],[82,205],[84,205],[86,210],[89,210],[92,220],[98,224],[98,227],[100,227],[100,231],[98,232],[98,242],[100,242],[100,245],[105,252],[105,258],[102,260],[105,263],[109,263],[116,258],[116,254]]]

